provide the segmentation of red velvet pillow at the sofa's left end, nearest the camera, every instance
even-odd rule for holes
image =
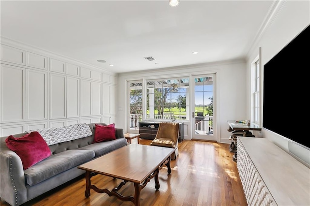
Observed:
[[[5,143],[20,157],[24,170],[51,155],[46,141],[39,132],[31,132],[18,138],[10,135],[5,139]]]

